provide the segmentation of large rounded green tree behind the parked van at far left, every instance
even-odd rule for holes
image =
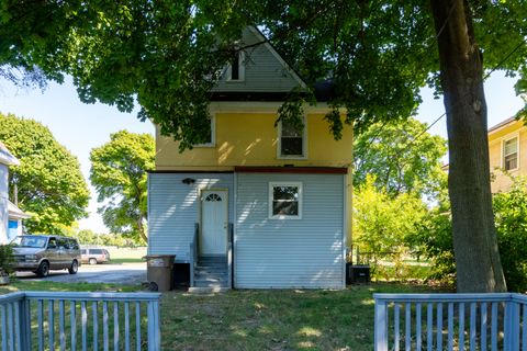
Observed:
[[[57,143],[49,129],[33,120],[0,114],[0,140],[20,159],[10,169],[10,197],[32,214],[30,233],[59,233],[86,217],[90,199],[79,161]]]

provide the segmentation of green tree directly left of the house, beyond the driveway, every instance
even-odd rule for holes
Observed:
[[[112,233],[146,242],[146,182],[147,171],[154,169],[154,138],[121,131],[110,139],[90,154],[90,180],[102,203],[99,213]]]

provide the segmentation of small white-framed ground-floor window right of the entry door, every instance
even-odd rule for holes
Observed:
[[[269,183],[269,218],[301,219],[302,218],[302,183],[270,182]]]

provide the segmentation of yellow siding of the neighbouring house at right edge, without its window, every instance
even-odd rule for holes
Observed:
[[[489,134],[489,160],[494,180],[491,183],[493,193],[507,191],[511,178],[503,173],[503,141],[518,136],[518,169],[508,173],[514,177],[527,176],[527,127],[522,121],[514,121]]]

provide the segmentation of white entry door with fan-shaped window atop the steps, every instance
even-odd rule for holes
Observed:
[[[204,190],[201,193],[201,254],[227,252],[227,191]]]

